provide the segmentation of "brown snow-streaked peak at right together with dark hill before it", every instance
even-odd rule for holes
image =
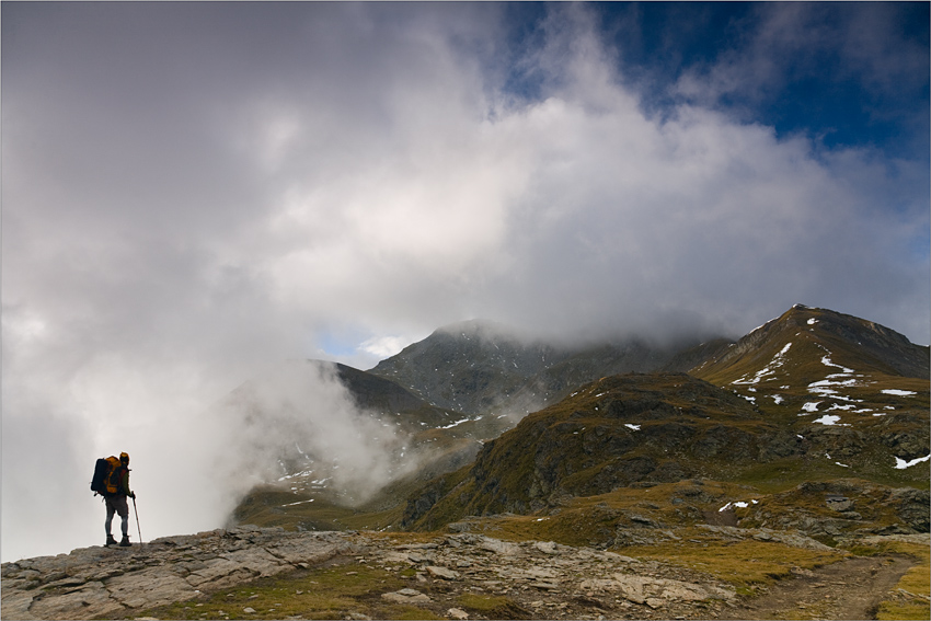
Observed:
[[[473,465],[409,498],[402,526],[436,528],[469,513],[545,515],[566,496],[694,476],[773,485],[855,473],[927,486],[927,347],[796,304],[703,352],[690,375],[608,376],[528,415],[486,442]],[[693,396],[677,398],[681,386]],[[700,406],[699,393],[716,405]],[[722,417],[725,403],[740,404],[744,423]]]

